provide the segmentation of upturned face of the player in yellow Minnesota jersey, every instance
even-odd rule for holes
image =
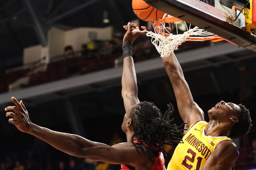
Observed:
[[[208,115],[210,119],[221,119],[221,120],[230,120],[230,117],[237,117],[237,114],[240,112],[240,107],[235,103],[226,103],[220,101],[212,109],[208,110]]]

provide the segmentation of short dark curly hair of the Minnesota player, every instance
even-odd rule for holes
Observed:
[[[241,110],[238,116],[238,122],[234,124],[231,133],[228,135],[228,137],[232,139],[243,138],[252,127],[252,119],[249,110],[242,104],[238,104],[238,106]]]

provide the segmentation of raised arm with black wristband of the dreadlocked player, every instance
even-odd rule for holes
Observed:
[[[124,100],[125,111],[132,107],[134,104],[139,103],[137,78],[132,59],[132,43],[140,35],[145,34],[145,31],[140,31],[139,24],[128,23],[124,28],[127,32],[123,40],[123,53],[124,53],[124,68],[122,75],[122,97]],[[146,27],[141,27],[146,29]]]

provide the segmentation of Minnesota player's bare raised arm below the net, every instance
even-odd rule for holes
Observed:
[[[184,122],[188,123],[186,127],[196,121],[204,120],[203,110],[194,102],[175,54],[172,53],[168,57],[163,57],[162,60],[172,83],[180,116]]]

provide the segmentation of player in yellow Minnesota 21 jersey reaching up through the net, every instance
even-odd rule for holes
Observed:
[[[194,102],[180,64],[172,53],[162,58],[177,100],[180,116],[186,124],[183,142],[172,156],[167,170],[230,170],[239,155],[232,138],[242,138],[252,126],[249,110],[242,104],[220,101],[208,111]],[[223,73],[220,76],[228,76]]]

